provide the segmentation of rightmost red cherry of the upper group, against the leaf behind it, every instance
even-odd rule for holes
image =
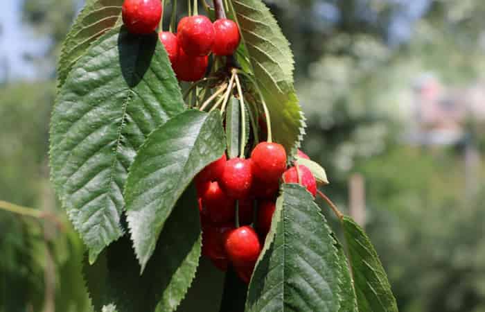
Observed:
[[[215,55],[233,55],[238,49],[241,36],[238,24],[231,19],[218,19],[214,22],[214,45],[212,52]]]

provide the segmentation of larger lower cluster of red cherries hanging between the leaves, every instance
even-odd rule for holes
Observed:
[[[249,282],[270,231],[281,180],[301,183],[313,196],[317,193],[311,171],[299,164],[287,168],[285,148],[270,142],[258,144],[249,159],[227,159],[224,154],[197,175],[202,254],[217,268],[225,271],[231,264],[240,279]]]

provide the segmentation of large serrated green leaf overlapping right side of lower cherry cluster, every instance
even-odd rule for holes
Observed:
[[[306,189],[283,184],[268,235],[249,284],[246,311],[338,311],[336,242]]]

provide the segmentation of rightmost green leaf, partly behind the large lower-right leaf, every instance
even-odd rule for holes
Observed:
[[[351,218],[342,218],[359,311],[398,311],[387,275],[364,230]]]

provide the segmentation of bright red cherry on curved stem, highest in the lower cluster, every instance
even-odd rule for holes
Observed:
[[[251,153],[253,174],[263,182],[278,181],[286,168],[286,151],[281,144],[261,142]]]

